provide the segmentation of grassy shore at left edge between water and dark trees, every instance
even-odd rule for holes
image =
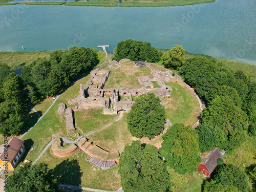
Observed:
[[[17,52],[0,52],[0,62],[6,63],[11,69],[19,68],[26,64],[32,63],[37,58],[50,58],[51,51],[17,51]]]

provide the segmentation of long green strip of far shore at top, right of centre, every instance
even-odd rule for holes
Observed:
[[[166,0],[166,1],[122,1],[120,7],[168,7],[168,6],[184,6],[202,3],[212,3],[216,0]]]

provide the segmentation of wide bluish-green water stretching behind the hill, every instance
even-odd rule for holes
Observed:
[[[132,38],[256,65],[256,1],[181,7],[0,6],[0,51],[96,48]]]

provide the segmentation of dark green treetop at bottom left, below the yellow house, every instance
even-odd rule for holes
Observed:
[[[33,165],[26,164],[18,172],[14,172],[8,178],[6,192],[23,191],[57,191],[58,183],[54,176],[54,170],[49,169],[47,164],[40,163]]]

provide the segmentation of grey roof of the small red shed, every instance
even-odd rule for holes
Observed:
[[[206,168],[212,173],[217,166],[217,159],[222,158],[223,155],[217,147],[212,148],[210,152],[204,152],[201,156],[201,164],[204,164]]]

